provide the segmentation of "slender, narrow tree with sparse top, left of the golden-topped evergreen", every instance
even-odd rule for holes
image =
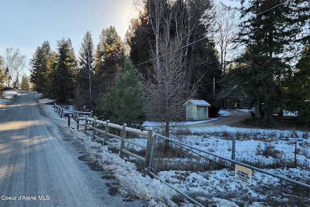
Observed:
[[[93,77],[93,39],[91,32],[86,32],[79,50],[79,72],[78,72],[78,85],[79,93],[83,100],[83,104],[92,104],[92,84]]]

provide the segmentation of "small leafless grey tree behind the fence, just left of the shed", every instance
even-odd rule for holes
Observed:
[[[150,105],[148,117],[163,123],[166,136],[169,137],[170,124],[184,118],[186,99],[194,95],[195,88],[188,90],[187,71],[184,63],[180,62],[184,54],[183,49],[178,48],[177,41],[166,41],[160,38],[158,48],[161,55],[154,58],[152,66],[147,68],[150,79],[144,79],[143,86],[146,90]],[[155,57],[156,54],[153,54]],[[159,60],[159,61],[158,61]],[[154,70],[157,64],[160,70]]]

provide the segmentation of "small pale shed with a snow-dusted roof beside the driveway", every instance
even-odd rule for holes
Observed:
[[[209,118],[211,105],[205,100],[189,99],[183,106],[186,106],[186,121],[202,121]]]

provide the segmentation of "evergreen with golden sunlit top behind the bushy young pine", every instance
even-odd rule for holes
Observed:
[[[109,83],[119,74],[124,60],[124,43],[115,27],[102,30],[95,53],[93,85],[96,97],[107,92]]]

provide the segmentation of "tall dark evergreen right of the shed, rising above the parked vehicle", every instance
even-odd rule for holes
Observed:
[[[246,51],[236,60],[239,67],[223,82],[226,88],[238,85],[240,93],[251,97],[256,105],[256,117],[261,116],[261,103],[264,103],[264,117],[267,118],[275,106],[282,106],[282,81],[291,69],[288,64],[292,58],[290,44],[298,33],[297,27],[292,26],[294,11],[286,0],[241,2],[244,21],[239,41],[246,46]]]

